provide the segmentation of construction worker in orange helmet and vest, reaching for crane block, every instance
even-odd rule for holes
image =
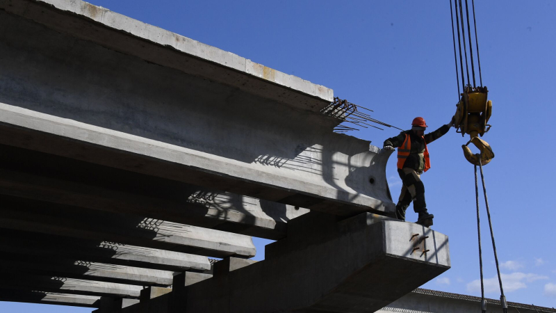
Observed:
[[[405,210],[413,201],[413,209],[419,214],[417,223],[429,227],[432,225],[434,215],[427,211],[425,202],[425,186],[420,175],[430,168],[429,151],[427,144],[440,138],[454,126],[454,119],[432,133],[425,135],[427,123],[423,118],[415,118],[411,122],[411,129],[402,131],[398,136],[384,141],[385,150],[394,150],[398,147],[398,174],[402,179],[402,193],[395,214],[400,220],[405,220]]]

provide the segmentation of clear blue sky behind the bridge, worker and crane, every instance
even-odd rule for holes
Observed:
[[[91,0],[142,22],[234,52],[334,89],[401,128],[423,116],[432,129],[455,113],[457,86],[449,1]],[[553,131],[556,2],[477,1],[482,80],[493,102],[496,154],[484,167],[507,300],[556,307]],[[478,79],[478,77],[477,77]],[[395,129],[353,134],[382,147]],[[434,229],[450,236],[452,268],[423,287],[480,296],[473,166],[452,129],[430,145],[423,175]],[[401,186],[392,157],[393,197]],[[498,298],[482,202],[486,296]],[[416,214],[408,210],[408,220]],[[265,241],[256,240],[263,257]],[[90,312],[0,303],[2,312]]]

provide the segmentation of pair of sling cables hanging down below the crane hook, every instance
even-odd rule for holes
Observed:
[[[504,288],[502,287],[502,277],[500,276],[500,265],[498,264],[498,253],[496,252],[496,243],[494,241],[494,232],[492,230],[492,220],[491,220],[491,211],[489,208],[489,198],[486,196],[486,186],[484,184],[484,174],[482,172],[482,162],[479,157],[479,168],[481,171],[481,182],[482,182],[482,191],[484,194],[484,204],[486,206],[486,216],[489,218],[489,228],[491,231],[491,241],[492,241],[492,249],[494,251],[494,261],[496,262],[496,273],[498,273],[498,284],[500,285],[500,305],[502,305],[502,312],[508,312],[508,305],[506,302],[506,296],[504,296]],[[477,182],[477,166],[475,166],[475,195],[477,200],[477,233],[479,237],[479,266],[481,271],[481,307],[482,313],[486,312],[486,302],[484,299],[484,282],[483,282],[483,275],[482,275],[482,250],[481,250],[481,230],[480,230],[480,217],[479,217],[479,191],[478,191],[478,182]]]

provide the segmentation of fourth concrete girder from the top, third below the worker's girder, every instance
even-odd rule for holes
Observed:
[[[67,257],[85,262],[159,269],[208,271],[211,264],[201,255],[125,245],[111,241],[87,241],[65,236],[0,229],[0,251],[31,258]]]

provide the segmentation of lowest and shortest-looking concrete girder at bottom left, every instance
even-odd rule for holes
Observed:
[[[70,305],[74,307],[99,307],[99,296],[59,294],[32,290],[0,289],[0,301]]]

